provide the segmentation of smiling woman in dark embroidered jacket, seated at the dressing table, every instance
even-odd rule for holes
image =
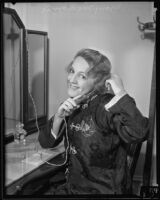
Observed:
[[[127,146],[145,139],[148,119],[99,51],[79,51],[67,73],[69,98],[39,136],[44,148],[65,138],[66,183],[55,194],[125,194],[131,185]]]

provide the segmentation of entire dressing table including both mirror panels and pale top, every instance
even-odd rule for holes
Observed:
[[[2,132],[4,146],[5,194],[15,194],[36,174],[49,167],[49,161],[64,151],[63,143],[46,150],[38,143],[38,130],[48,119],[48,33],[27,30],[11,8],[3,9],[4,85]],[[37,67],[38,66],[38,67]],[[13,132],[21,122],[26,143],[14,142]],[[63,160],[63,156],[62,156]]]

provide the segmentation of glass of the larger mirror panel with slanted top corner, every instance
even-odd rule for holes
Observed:
[[[4,98],[5,134],[10,135],[21,120],[20,108],[20,34],[13,17],[4,14]]]

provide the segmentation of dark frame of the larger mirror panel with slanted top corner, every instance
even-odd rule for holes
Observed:
[[[25,26],[23,22],[21,21],[20,17],[18,16],[17,12],[12,8],[3,8],[3,14],[2,14],[2,20],[4,19],[3,15],[8,14],[11,15],[11,17],[16,22],[17,26],[19,27],[21,31],[20,35],[20,121],[24,123],[24,91],[25,91],[25,81],[26,81],[26,72],[27,72],[27,60],[26,60],[26,43],[25,43]],[[2,24],[4,24],[4,20],[2,21]],[[3,39],[2,39],[3,40]],[[4,66],[4,41],[3,41],[3,66]],[[3,70],[3,76],[4,76],[4,70]],[[5,85],[3,82],[3,90],[5,90]],[[4,101],[5,103],[5,101]],[[3,108],[4,109],[4,108]],[[4,110],[5,113],[5,110]],[[5,132],[5,119],[4,120],[4,132]],[[9,143],[13,141],[14,136],[13,134],[9,134],[8,136],[5,135],[5,143]]]

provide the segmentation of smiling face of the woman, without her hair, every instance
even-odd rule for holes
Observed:
[[[87,61],[80,56],[73,61],[67,78],[69,97],[87,94],[93,90],[95,79],[87,76],[89,68]]]

